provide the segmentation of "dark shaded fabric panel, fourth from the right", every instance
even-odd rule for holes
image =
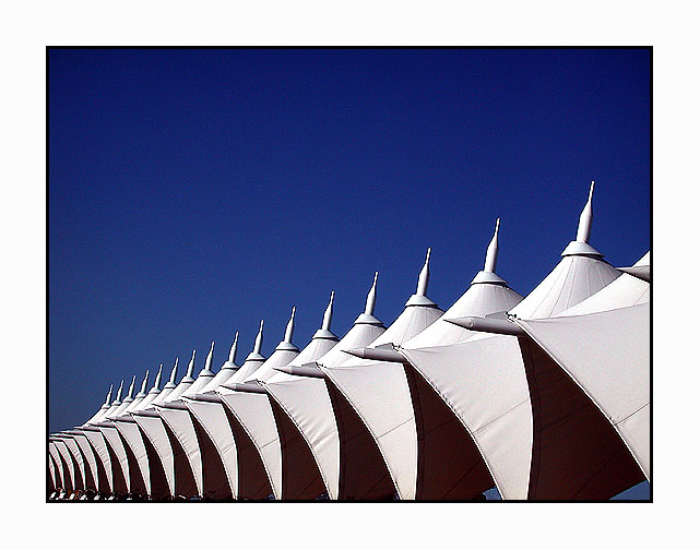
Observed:
[[[282,447],[282,500],[313,500],[325,492],[311,449],[274,400],[270,399]]]

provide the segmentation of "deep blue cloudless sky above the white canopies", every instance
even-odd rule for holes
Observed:
[[[216,368],[360,312],[389,324],[432,247],[449,307],[502,218],[525,295],[574,238],[614,265],[650,246],[646,50],[49,52],[49,430],[175,357]],[[183,369],[180,369],[180,375]]]

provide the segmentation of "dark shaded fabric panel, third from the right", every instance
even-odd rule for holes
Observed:
[[[340,435],[339,500],[391,500],[389,469],[363,420],[335,385],[325,380]]]

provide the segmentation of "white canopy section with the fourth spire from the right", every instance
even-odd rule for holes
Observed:
[[[297,367],[290,363],[278,368],[282,372],[295,375],[296,380],[277,379],[263,383],[268,394],[284,409],[309,445],[325,490],[333,500],[340,497],[341,437],[331,396],[318,367],[344,361],[347,359],[344,349],[366,346],[385,331],[383,323],[375,316],[378,275],[375,273],[365,311],[335,346],[311,366],[301,363]]]

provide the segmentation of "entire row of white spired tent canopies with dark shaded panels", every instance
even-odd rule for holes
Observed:
[[[442,311],[416,292],[388,327],[365,310],[342,338],[321,327],[301,350],[295,309],[274,352],[193,378],[135,376],[83,426],[49,438],[61,498],[604,500],[650,479],[650,258],[617,270],[577,239],[525,298],[484,270]],[[627,273],[625,273],[625,271]]]

